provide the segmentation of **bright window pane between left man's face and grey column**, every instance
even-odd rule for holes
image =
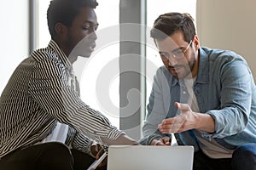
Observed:
[[[119,0],[97,2],[98,38],[94,53],[84,59],[81,98],[119,127],[119,35],[114,35],[119,32]]]

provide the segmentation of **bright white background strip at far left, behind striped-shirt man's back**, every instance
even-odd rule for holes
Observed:
[[[28,0],[1,0],[0,94],[15,67],[28,55]]]

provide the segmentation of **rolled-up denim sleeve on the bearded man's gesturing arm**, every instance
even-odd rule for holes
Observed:
[[[213,138],[240,133],[248,122],[252,101],[253,77],[244,59],[227,56],[220,69],[220,108],[207,111],[215,120]]]

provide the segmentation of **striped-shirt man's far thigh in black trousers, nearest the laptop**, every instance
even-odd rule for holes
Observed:
[[[84,152],[80,150],[71,150],[74,163],[73,163],[73,170],[84,170],[87,169],[87,167],[90,167],[90,164],[95,161],[95,158],[92,156],[85,154]],[[107,167],[98,167],[97,169],[105,170]]]

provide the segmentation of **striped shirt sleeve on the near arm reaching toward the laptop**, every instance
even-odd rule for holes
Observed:
[[[106,116],[85,105],[71,88],[73,75],[61,61],[46,58],[34,66],[29,94],[44,111],[84,136],[111,140],[119,137],[122,132],[113,127]]]

